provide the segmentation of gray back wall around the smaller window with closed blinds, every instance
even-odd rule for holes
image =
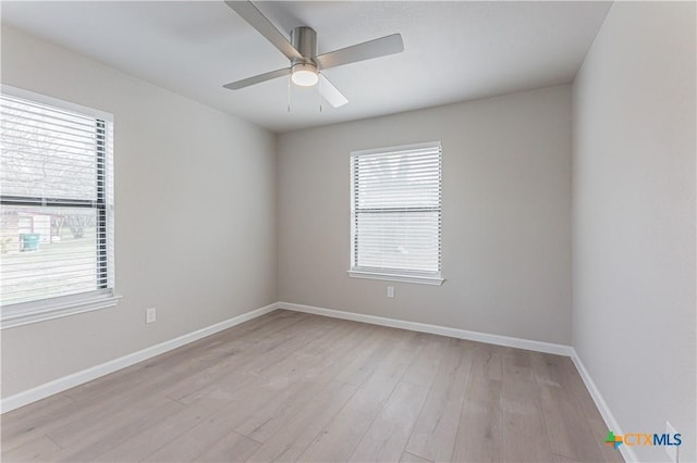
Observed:
[[[281,135],[279,299],[570,343],[571,98],[560,86]],[[435,140],[447,281],[348,277],[350,152]]]

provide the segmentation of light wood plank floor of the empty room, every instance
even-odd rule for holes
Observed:
[[[281,310],[1,424],[2,461],[622,461],[567,358]]]

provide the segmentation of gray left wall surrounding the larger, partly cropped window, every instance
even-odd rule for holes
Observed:
[[[2,330],[3,397],[277,300],[274,134],[5,26],[2,82],[114,115],[123,296]]]

